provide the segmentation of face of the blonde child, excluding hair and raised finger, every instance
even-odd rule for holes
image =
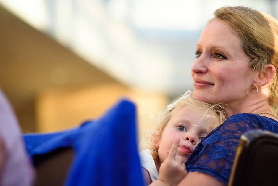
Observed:
[[[182,157],[185,163],[203,137],[211,131],[209,125],[214,125],[214,120],[203,120],[206,110],[193,110],[191,108],[181,108],[177,110],[166,124],[159,140],[158,156],[159,164],[167,157],[167,150],[170,150],[174,140],[180,138],[177,149],[177,156]],[[198,124],[199,123],[199,124]],[[193,126],[198,124],[198,126]]]

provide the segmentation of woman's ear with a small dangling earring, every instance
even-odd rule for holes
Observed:
[[[264,86],[266,84],[269,83],[269,81],[271,81],[271,79],[273,78],[274,74],[275,74],[275,67],[274,65],[266,65],[264,70],[261,70],[258,73],[258,76],[255,80],[255,86]]]

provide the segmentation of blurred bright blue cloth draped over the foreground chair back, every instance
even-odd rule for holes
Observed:
[[[135,105],[122,100],[98,120],[78,128],[23,137],[31,158],[59,147],[74,148],[66,186],[142,186],[135,121]]]

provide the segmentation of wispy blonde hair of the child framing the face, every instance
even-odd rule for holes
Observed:
[[[191,91],[186,92],[183,96],[177,97],[177,99],[175,99],[171,104],[169,104],[167,108],[162,110],[157,118],[153,117],[157,121],[155,130],[153,133],[151,133],[151,137],[146,137],[145,139],[142,140],[139,146],[140,150],[143,150],[143,148],[150,149],[151,155],[153,156],[153,160],[155,161],[155,163],[157,163],[158,146],[156,144],[159,143],[163,129],[165,128],[166,124],[168,123],[171,116],[175,112],[177,112],[181,108],[186,108],[186,107],[189,107],[196,111],[206,110],[206,113],[204,114],[201,120],[211,121],[211,119],[213,119],[214,125],[210,126],[212,130],[217,126],[219,126],[220,124],[222,124],[227,119],[227,116],[224,111],[224,106],[225,106],[224,104],[209,104],[209,103],[201,102],[199,100],[195,100],[192,97]]]

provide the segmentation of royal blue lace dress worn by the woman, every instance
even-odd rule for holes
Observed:
[[[257,114],[231,116],[197,145],[185,163],[187,171],[209,174],[227,185],[240,136],[251,129],[278,133],[278,122]]]

